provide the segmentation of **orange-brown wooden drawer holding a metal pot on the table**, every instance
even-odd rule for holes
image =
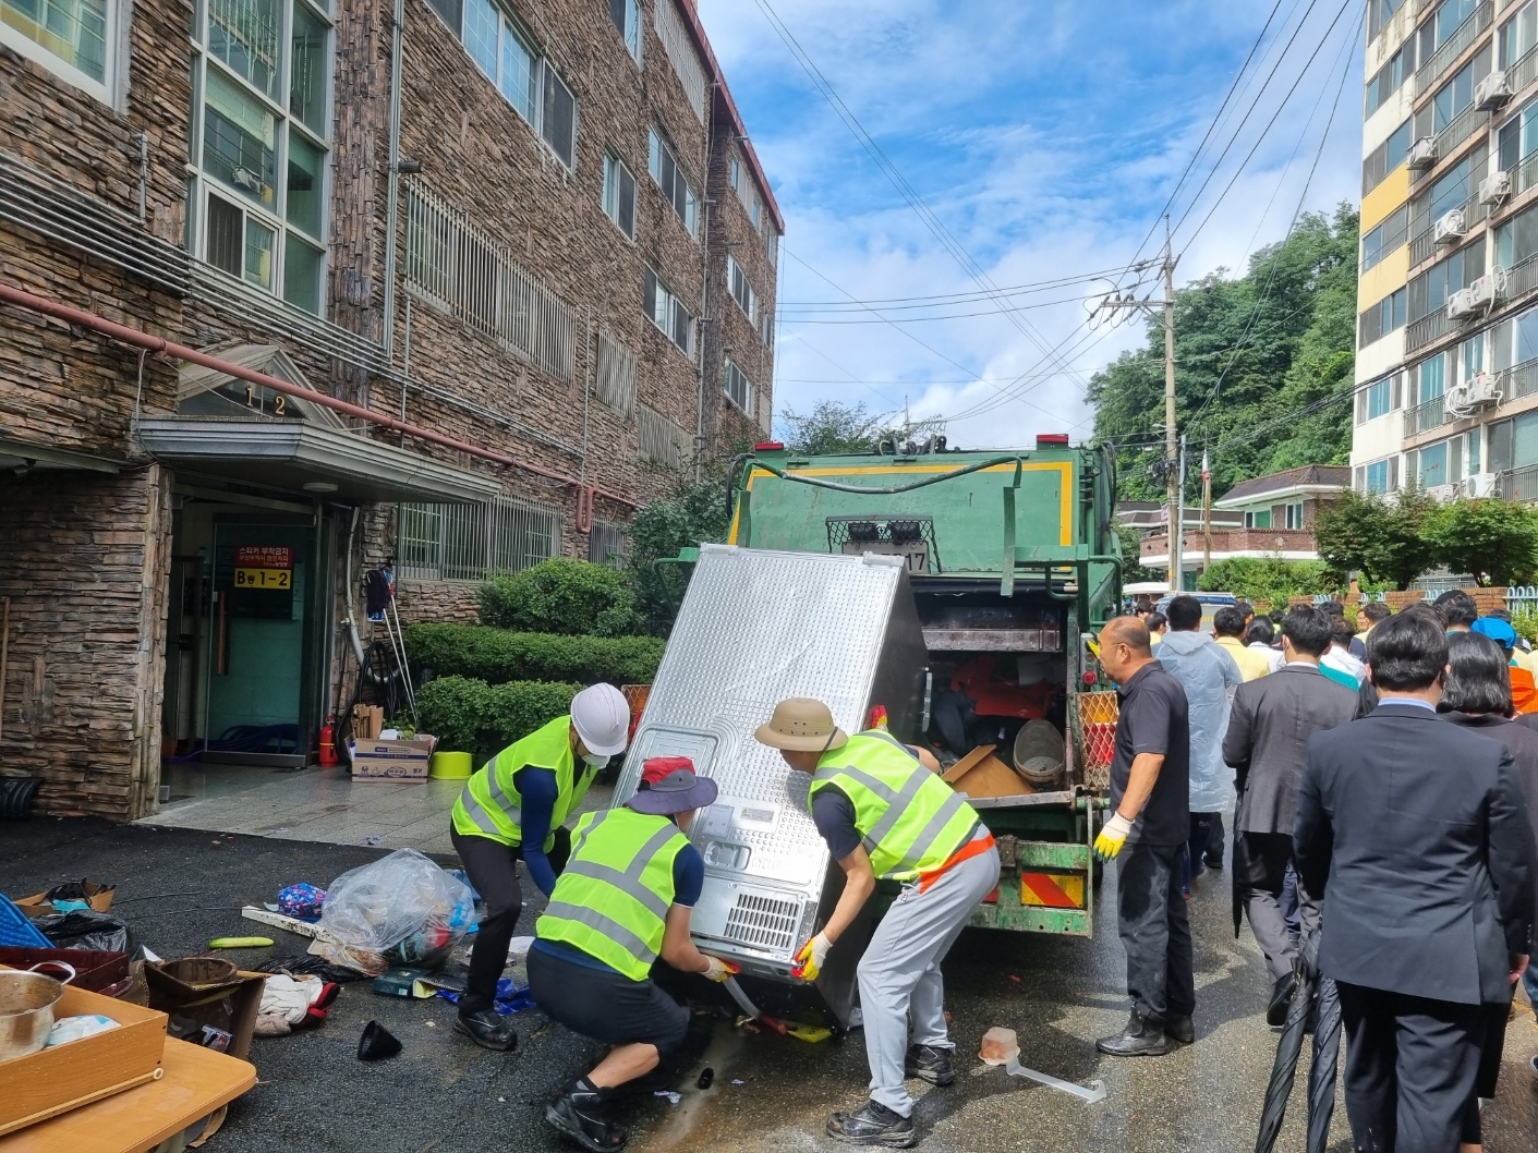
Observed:
[[[260,1004],[260,995],[258,995]],[[0,1133],[12,1133],[160,1076],[166,1015],[66,985],[54,1019],[102,1013],[118,1028],[0,1061]],[[252,1015],[255,1022],[255,1015]]]

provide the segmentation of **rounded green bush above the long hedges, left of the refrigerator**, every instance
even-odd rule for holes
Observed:
[[[638,629],[626,573],[608,564],[551,560],[501,572],[477,595],[481,624],[564,636],[626,636]]]

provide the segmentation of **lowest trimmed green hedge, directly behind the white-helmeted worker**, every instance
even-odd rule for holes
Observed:
[[[568,712],[581,689],[560,681],[486,684],[438,676],[417,690],[417,715],[440,750],[474,753],[480,763]]]

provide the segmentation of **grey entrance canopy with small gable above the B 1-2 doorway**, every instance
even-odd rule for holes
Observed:
[[[275,346],[218,355],[314,390]],[[478,504],[501,489],[494,477],[351,432],[331,409],[223,372],[189,364],[178,392],[175,417],[138,421],[145,449],[175,467],[352,503]]]

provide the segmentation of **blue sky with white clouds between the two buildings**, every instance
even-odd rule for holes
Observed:
[[[1272,12],[1269,0],[769,3],[997,286],[1129,263]],[[1000,447],[1027,443],[1037,432],[1087,435],[1086,381],[1141,341],[1130,326],[1084,327],[1083,298],[1109,281],[1010,297],[1012,307],[1029,306],[1015,314],[1029,321],[1024,332],[989,300],[918,311],[795,307],[843,301],[844,294],[886,301],[978,287],[817,92],[758,0],[698,0],[698,8],[786,217],[777,414],[804,412],[820,398],[898,410],[906,398],[914,417],[952,417],[954,444]],[[1318,211],[1357,200],[1360,8],[1358,0],[1277,5],[1218,143],[1253,109],[1249,123],[1195,204],[1192,194],[1217,149],[1175,198],[1177,220],[1192,209],[1175,235],[1177,281],[1243,267],[1253,248],[1286,234],[1300,198]],[[1277,61],[1275,78],[1261,91]],[[1340,108],[1321,151],[1337,91]],[[1263,132],[1272,115],[1275,125]],[[1257,141],[1253,158],[1220,200]],[[1213,203],[1217,211],[1198,231]],[[1157,241],[1144,255],[1152,248]],[[937,312],[983,315],[895,326],[878,318]],[[1054,349],[1054,357],[1044,355]],[[1024,395],[1012,395],[1021,389]]]

